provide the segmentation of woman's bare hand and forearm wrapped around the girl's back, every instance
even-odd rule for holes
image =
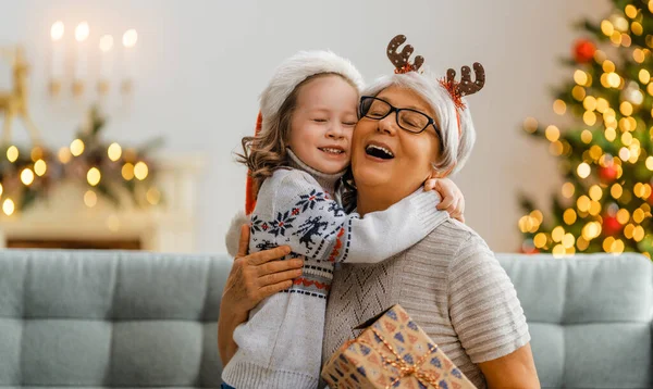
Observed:
[[[226,365],[238,349],[233,334],[247,322],[249,311],[261,300],[293,285],[292,279],[301,275],[300,259],[278,261],[291,252],[287,246],[259,251],[247,255],[249,227],[241,228],[238,255],[226,279],[220,316],[218,318],[218,350],[222,364]]]

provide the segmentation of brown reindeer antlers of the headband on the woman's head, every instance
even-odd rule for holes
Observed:
[[[415,62],[410,63],[410,55],[415,49],[410,45],[406,45],[404,49],[398,52],[397,48],[406,42],[405,35],[397,35],[392,38],[387,43],[387,58],[390,62],[395,66],[395,74],[406,74],[408,72],[419,72],[419,68],[424,63],[424,58],[417,55]],[[476,74],[476,80],[471,80],[471,70],[469,66],[463,66],[460,81],[456,81],[456,71],[449,68],[446,72],[446,78],[440,80],[440,84],[449,92],[454,104],[465,110],[466,105],[463,102],[463,97],[473,95],[481,90],[485,85],[485,70],[483,65],[476,62],[473,64],[473,73]]]

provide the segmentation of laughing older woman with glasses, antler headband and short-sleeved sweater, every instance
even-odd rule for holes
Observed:
[[[404,38],[405,40],[405,38]],[[395,49],[390,59],[395,75],[378,79],[361,98],[354,130],[348,187],[365,216],[386,210],[418,190],[436,168],[445,176],[459,171],[471,152],[475,129],[463,99],[478,91],[484,73],[475,64],[463,80],[453,71],[438,80],[418,73]],[[382,146],[387,155],[371,152]],[[378,148],[374,148],[378,150]],[[347,339],[352,328],[393,304],[402,304],[478,388],[539,388],[530,335],[515,288],[483,239],[443,212],[432,233],[410,249],[380,264],[343,264],[334,273],[328,301],[323,361]],[[288,288],[301,261],[274,261],[288,253],[282,247],[245,255],[242,230],[236,258],[224,290],[219,323],[223,362],[235,352],[234,328],[263,298]],[[389,237],[391,238],[391,237]],[[241,389],[241,388],[238,388]]]

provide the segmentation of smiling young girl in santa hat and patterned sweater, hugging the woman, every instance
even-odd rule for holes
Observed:
[[[262,301],[234,331],[238,351],[222,374],[229,387],[316,388],[334,263],[381,262],[433,228],[434,191],[419,190],[364,218],[334,200],[350,160],[361,88],[348,61],[315,51],[283,62],[261,96],[260,131],[243,139],[241,155],[260,188],[249,251],[289,246],[291,258],[306,260],[293,287]],[[367,153],[393,158],[383,145]]]

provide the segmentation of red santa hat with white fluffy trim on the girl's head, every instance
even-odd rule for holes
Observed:
[[[331,51],[300,51],[276,67],[272,79],[261,93],[261,105],[256,121],[255,135],[266,133],[279,120],[281,105],[295,88],[308,77],[318,74],[338,74],[352,83],[358,92],[365,87],[360,72],[348,60]],[[254,179],[247,174],[245,213],[251,214],[256,205]]]

